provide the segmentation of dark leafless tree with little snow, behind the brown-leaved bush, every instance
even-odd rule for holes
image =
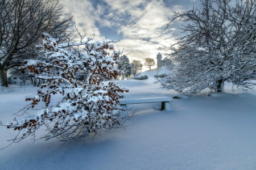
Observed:
[[[62,13],[57,0],[0,0],[1,85],[8,86],[9,69],[37,56],[35,44],[43,32],[60,40],[71,25],[72,18]]]

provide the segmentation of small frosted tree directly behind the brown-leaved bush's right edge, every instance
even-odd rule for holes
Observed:
[[[131,65],[127,56],[123,55],[120,57],[117,68],[122,71],[122,79],[131,76]]]

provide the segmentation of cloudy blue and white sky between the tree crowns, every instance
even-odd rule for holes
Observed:
[[[180,36],[181,23],[168,29],[172,11],[185,10],[199,0],[61,0],[64,12],[74,16],[76,26],[94,40],[118,41],[115,49],[123,50],[130,61],[154,58],[158,52],[170,52],[169,47]],[[105,38],[106,37],[106,38]]]

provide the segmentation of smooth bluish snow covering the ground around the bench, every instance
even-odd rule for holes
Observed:
[[[119,82],[130,89],[127,99],[176,94],[152,78]],[[256,169],[256,90],[225,88],[228,94],[174,99],[172,112],[160,111],[160,103],[129,105],[137,116],[125,129],[102,131],[85,144],[26,139],[0,151],[0,169]],[[0,120],[12,120],[35,91],[0,89]],[[0,131],[3,148],[16,131]]]

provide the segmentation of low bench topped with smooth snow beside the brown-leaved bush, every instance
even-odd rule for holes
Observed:
[[[157,98],[143,98],[143,99],[124,99],[120,100],[120,105],[124,108],[127,108],[127,104],[141,104],[141,103],[162,103],[161,111],[171,111],[171,104],[170,101],[172,100],[172,97],[157,97]]]

